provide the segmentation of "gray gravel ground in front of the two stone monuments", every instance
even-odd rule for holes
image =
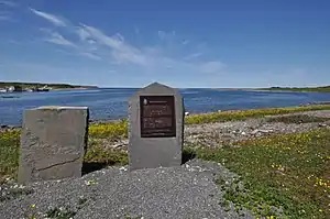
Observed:
[[[234,174],[220,164],[193,160],[180,167],[141,169],[109,167],[81,178],[35,183],[31,195],[0,202],[1,219],[47,218],[50,209],[73,218],[253,218],[222,207],[218,175]],[[88,185],[90,184],[90,185]],[[35,205],[35,206],[34,206]]]

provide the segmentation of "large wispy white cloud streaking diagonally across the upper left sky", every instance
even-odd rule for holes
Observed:
[[[73,54],[99,61],[106,65],[112,65],[112,67],[114,65],[131,69],[140,67],[144,73],[162,72],[164,74],[176,74],[177,72],[218,74],[224,67],[220,61],[201,62],[200,58],[197,62],[196,58],[202,57],[206,52],[193,45],[188,40],[179,39],[175,31],[158,31],[156,44],[134,46],[121,33],[108,35],[92,25],[82,23],[76,25],[59,17],[31,10],[56,26],[62,26],[56,31],[41,29],[46,34],[44,41],[67,46]],[[136,34],[141,34],[139,29],[135,28],[134,31]],[[190,53],[185,53],[185,50],[180,48],[182,45],[185,45]],[[206,45],[204,44],[204,46]]]

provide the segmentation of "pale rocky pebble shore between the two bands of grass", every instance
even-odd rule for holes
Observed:
[[[284,118],[293,116],[307,116],[310,121],[295,121],[295,123],[270,122],[271,118]],[[306,119],[305,118],[305,119]],[[322,121],[314,118],[323,118]],[[302,117],[304,120],[304,117]],[[301,133],[312,129],[330,127],[330,110],[297,112],[282,116],[268,116],[265,118],[249,119],[245,121],[216,122],[205,124],[185,125],[185,145],[199,145],[208,147],[239,146],[237,142],[274,134]],[[105,147],[121,149],[127,151],[129,140],[107,139],[96,140]]]

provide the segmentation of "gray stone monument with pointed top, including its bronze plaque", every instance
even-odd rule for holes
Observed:
[[[129,100],[130,169],[182,165],[184,102],[177,89],[154,83]]]

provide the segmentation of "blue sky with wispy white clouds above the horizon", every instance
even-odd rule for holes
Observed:
[[[329,0],[0,0],[0,80],[330,85]]]

